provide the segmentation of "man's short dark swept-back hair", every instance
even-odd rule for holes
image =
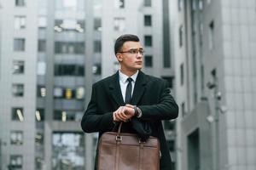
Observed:
[[[136,35],[125,34],[118,37],[114,43],[114,54],[120,52],[125,42],[139,42],[140,39]]]

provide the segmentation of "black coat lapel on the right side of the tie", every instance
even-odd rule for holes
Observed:
[[[137,105],[146,89],[147,79],[142,71],[138,72],[137,80],[132,94],[131,105]]]

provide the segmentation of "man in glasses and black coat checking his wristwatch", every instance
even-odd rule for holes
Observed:
[[[119,37],[114,53],[120,69],[92,86],[90,103],[81,127],[85,133],[99,132],[100,138],[102,133],[112,131],[118,122],[124,122],[122,132],[126,133],[140,133],[134,125],[136,123],[133,123],[135,121],[147,123],[150,135],[160,140],[160,169],[170,170],[172,161],[161,121],[175,119],[178,106],[167,82],[140,71],[143,67],[143,47],[137,36],[129,34]]]

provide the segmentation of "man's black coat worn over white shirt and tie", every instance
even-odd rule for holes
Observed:
[[[102,133],[112,131],[113,111],[121,105],[125,105],[125,102],[119,86],[119,72],[96,82],[92,86],[90,103],[81,122],[84,132],[99,132],[100,138]],[[171,156],[161,121],[175,119],[178,115],[178,106],[170,94],[167,82],[139,71],[131,105],[137,105],[141,109],[143,116],[138,120],[148,122],[152,130],[151,136],[160,140],[160,169],[171,170]],[[131,122],[125,123],[123,127],[125,132],[135,133]]]

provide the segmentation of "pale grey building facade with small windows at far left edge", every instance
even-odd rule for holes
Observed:
[[[38,4],[0,4],[0,169],[34,169]]]

